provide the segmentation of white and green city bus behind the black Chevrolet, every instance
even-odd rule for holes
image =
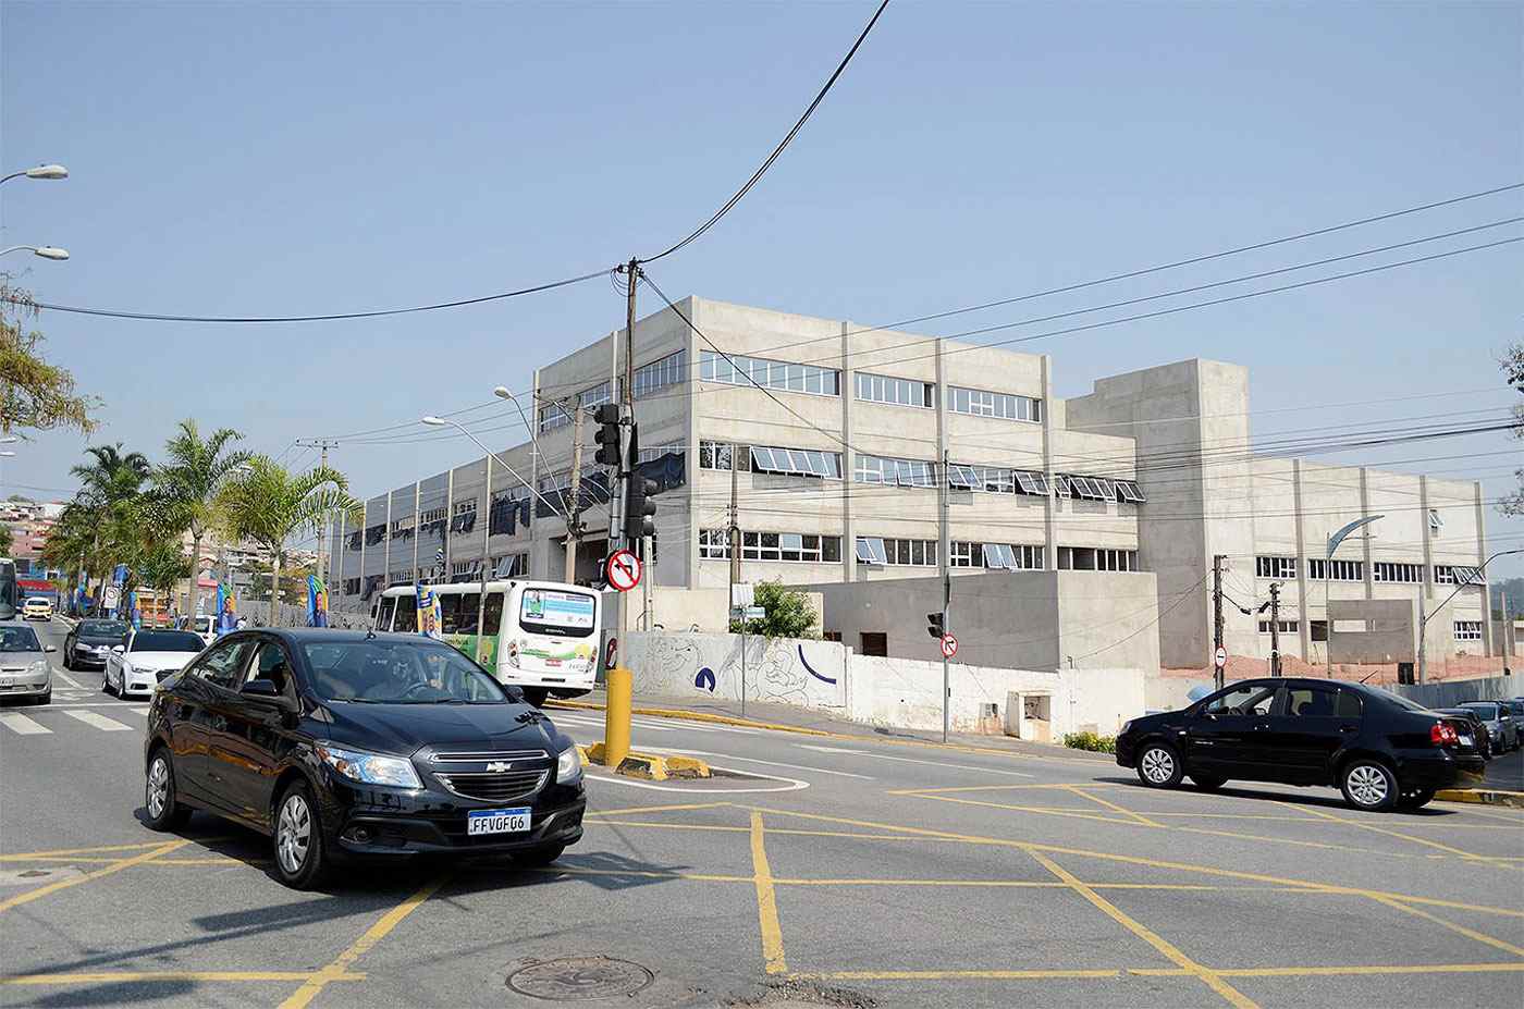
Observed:
[[[530,704],[543,704],[550,693],[579,697],[593,689],[602,607],[591,588],[565,582],[488,582],[485,604],[482,582],[430,588],[439,597],[443,639],[492,671],[498,683],[520,687]],[[372,626],[416,633],[416,587],[398,585],[381,593]]]

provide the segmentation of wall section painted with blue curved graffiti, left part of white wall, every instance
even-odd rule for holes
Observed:
[[[742,655],[733,634],[643,634],[629,637],[636,689],[654,693],[741,700]],[[834,642],[745,639],[745,695],[806,707],[846,703],[846,649]]]

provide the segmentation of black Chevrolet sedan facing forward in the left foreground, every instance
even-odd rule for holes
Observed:
[[[151,828],[190,809],[250,826],[297,889],[351,860],[550,863],[587,806],[572,739],[517,687],[407,634],[229,634],[160,684],[143,758]]]

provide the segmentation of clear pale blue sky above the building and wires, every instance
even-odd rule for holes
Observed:
[[[56,160],[73,177],[8,183],[0,238],[66,245],[73,259],[6,265],[61,303],[305,314],[468,297],[651,255],[750,174],[870,11],[8,0],[0,165]],[[1519,181],[1521,35],[1518,3],[898,0],[765,181],[652,276],[674,297],[876,323]],[[951,323],[1519,213],[1513,192]],[[1518,250],[1026,349],[1055,355],[1062,395],[1198,355],[1250,366],[1254,410],[1457,393],[1256,415],[1257,434],[1501,408],[1495,357],[1524,334]],[[52,312],[44,328],[52,355],[105,399],[98,440],[152,453],[195,415],[280,453],[297,436],[483,402],[497,383],[526,389],[532,366],[616,328],[622,311],[597,280],[369,322]],[[82,445],[38,437],[5,482],[70,488]],[[1492,434],[1359,459],[1451,456],[1417,466],[1483,476],[1497,495],[1524,453],[1472,454],[1518,447]],[[474,454],[445,440],[344,447],[334,462],[369,495]],[[1524,544],[1524,523],[1489,521],[1516,537],[1498,546]],[[1519,572],[1500,562],[1495,575]]]

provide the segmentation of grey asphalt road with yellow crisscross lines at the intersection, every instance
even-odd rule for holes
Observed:
[[[46,631],[58,643],[62,628]],[[399,866],[297,893],[268,843],[139,823],[143,703],[67,674],[0,712],[0,1004],[1516,1006],[1524,811],[1145,790],[1106,758],[636,719],[707,782],[594,770],[549,870]],[[556,712],[575,738],[600,716]],[[20,721],[24,719],[24,721]],[[631,969],[631,968],[623,968]]]

